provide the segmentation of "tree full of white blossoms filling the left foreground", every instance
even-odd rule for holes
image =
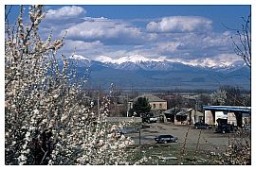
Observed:
[[[38,30],[44,19],[42,6],[31,6],[30,24],[6,26],[5,40],[5,145],[6,164],[127,164],[130,138],[118,136],[106,122],[110,101],[82,103],[82,82],[76,68],[57,50],[64,37],[43,42]]]

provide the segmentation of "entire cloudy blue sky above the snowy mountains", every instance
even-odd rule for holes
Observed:
[[[13,10],[17,10],[14,7]],[[240,28],[250,6],[46,6],[42,36],[67,31],[62,52],[89,59],[143,56],[180,62],[232,64],[227,27]],[[15,12],[12,18],[15,18]]]

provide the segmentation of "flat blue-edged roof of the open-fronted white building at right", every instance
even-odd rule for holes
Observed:
[[[204,110],[229,110],[250,112],[250,107],[241,106],[203,106]]]

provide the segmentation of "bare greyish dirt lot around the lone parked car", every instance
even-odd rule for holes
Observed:
[[[178,137],[178,143],[184,144],[188,132],[186,146],[196,147],[199,139],[199,147],[206,151],[224,151],[229,144],[229,134],[214,133],[214,127],[210,129],[195,129],[192,126],[174,126],[170,123],[149,124],[150,128],[140,131],[140,144],[155,144],[155,136],[171,134]],[[199,134],[201,135],[199,138]],[[139,133],[129,134],[135,143],[139,143]]]

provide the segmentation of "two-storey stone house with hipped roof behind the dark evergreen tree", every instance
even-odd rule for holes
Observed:
[[[162,110],[167,110],[167,101],[163,100],[155,95],[145,93],[142,95],[138,95],[136,98],[130,100],[128,102],[129,110],[133,109],[133,103],[137,101],[137,98],[139,97],[145,97],[148,99],[148,102],[151,106],[152,111],[162,111]]]

